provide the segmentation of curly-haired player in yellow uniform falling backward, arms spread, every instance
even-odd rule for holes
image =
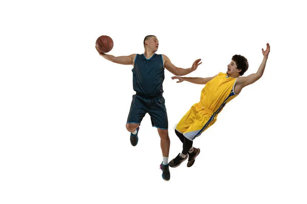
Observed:
[[[200,149],[193,147],[193,140],[200,136],[216,121],[220,113],[230,100],[235,98],[241,90],[259,80],[264,73],[267,59],[270,53],[270,45],[267,49],[262,48],[264,59],[256,73],[247,77],[242,76],[248,69],[248,61],[241,55],[234,55],[227,66],[226,73],[218,73],[209,78],[185,78],[172,77],[178,79],[177,83],[187,81],[194,84],[206,84],[201,92],[201,100],[194,104],[183,116],[176,126],[175,133],[183,143],[183,150],[176,158],[171,160],[170,167],[178,167],[188,158],[187,167],[191,167],[195,158],[200,154]]]

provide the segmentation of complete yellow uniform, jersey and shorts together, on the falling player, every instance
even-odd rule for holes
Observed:
[[[213,125],[224,106],[236,97],[234,85],[237,78],[218,73],[201,92],[201,100],[194,104],[176,126],[176,130],[193,140]]]

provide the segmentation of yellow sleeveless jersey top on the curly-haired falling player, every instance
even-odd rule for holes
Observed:
[[[228,77],[226,73],[218,73],[203,88],[199,104],[216,116],[230,100],[237,96],[234,93],[236,80],[237,78]]]

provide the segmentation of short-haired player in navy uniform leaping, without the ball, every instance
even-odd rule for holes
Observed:
[[[123,65],[133,65],[133,89],[136,94],[130,106],[126,129],[130,132],[131,145],[138,144],[139,125],[146,113],[150,115],[151,124],[157,127],[161,138],[161,150],[163,162],[160,165],[162,178],[169,181],[168,154],[170,140],[168,136],[168,119],[163,93],[164,68],[175,75],[186,75],[194,71],[202,62],[195,60],[191,68],[179,68],[174,66],[165,55],[156,54],[159,41],[156,36],[148,35],[144,38],[144,54],[132,54],[129,56],[115,57],[99,52],[105,59]]]

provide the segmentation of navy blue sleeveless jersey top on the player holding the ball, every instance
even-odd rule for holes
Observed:
[[[158,96],[163,93],[164,65],[162,55],[153,54],[146,59],[137,54],[133,72],[133,89],[144,96]]]

